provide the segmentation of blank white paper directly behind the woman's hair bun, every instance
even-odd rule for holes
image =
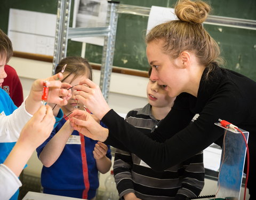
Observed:
[[[147,31],[167,21],[177,20],[174,9],[170,7],[151,6],[148,18]]]

